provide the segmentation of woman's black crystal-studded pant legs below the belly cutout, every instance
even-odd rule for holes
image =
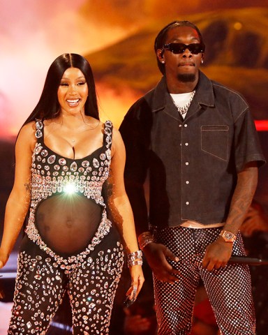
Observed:
[[[46,334],[66,290],[73,312],[73,334],[108,334],[123,263],[123,246],[114,228],[71,271],[61,269],[24,237],[8,334]]]

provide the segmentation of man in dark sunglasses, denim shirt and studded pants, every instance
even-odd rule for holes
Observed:
[[[126,188],[154,276],[158,334],[189,334],[204,282],[221,334],[255,334],[239,233],[265,163],[248,105],[200,70],[198,27],[171,22],[156,37],[163,78],[126,114]],[[143,184],[149,177],[149,219]]]

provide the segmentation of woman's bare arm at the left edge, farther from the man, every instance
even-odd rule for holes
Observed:
[[[6,203],[3,237],[0,248],[0,268],[8,261],[29,209],[31,156],[35,137],[33,123],[24,126],[15,145],[15,180]]]

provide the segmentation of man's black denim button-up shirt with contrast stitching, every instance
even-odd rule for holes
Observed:
[[[119,128],[126,145],[125,182],[137,233],[186,220],[224,222],[237,172],[251,161],[265,163],[244,98],[200,79],[185,119],[165,77],[128,110]],[[149,218],[143,185],[149,172]]]

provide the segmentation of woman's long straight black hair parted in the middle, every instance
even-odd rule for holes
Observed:
[[[89,96],[84,105],[84,113],[99,119],[94,76],[89,62],[80,54],[61,54],[48,69],[40,100],[24,124],[36,119],[54,119],[59,115],[60,106],[57,92],[61,78],[68,68],[79,68],[82,71],[89,88]]]

